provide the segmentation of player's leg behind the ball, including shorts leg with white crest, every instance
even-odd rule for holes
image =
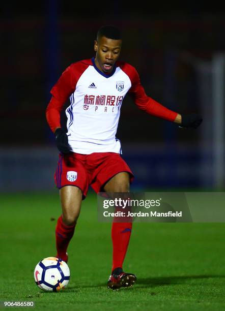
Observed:
[[[54,179],[60,189],[62,204],[62,215],[55,228],[57,257],[67,261],[66,251],[74,233],[81,200],[88,192],[89,178],[85,167],[85,155],[74,152],[60,154]]]

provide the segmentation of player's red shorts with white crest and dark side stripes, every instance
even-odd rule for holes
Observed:
[[[60,153],[54,180],[59,189],[65,185],[77,186],[81,189],[84,199],[88,193],[89,185],[96,193],[104,192],[104,184],[120,172],[128,172],[130,182],[132,182],[133,173],[119,153]]]

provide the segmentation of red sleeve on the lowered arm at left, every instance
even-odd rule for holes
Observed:
[[[60,128],[60,113],[69,96],[74,92],[81,74],[91,65],[90,60],[78,61],[67,67],[50,90],[52,98],[46,108],[46,119],[52,132]]]

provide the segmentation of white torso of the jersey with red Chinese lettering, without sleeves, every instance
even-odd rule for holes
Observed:
[[[81,74],[66,110],[72,151],[120,152],[116,133],[120,108],[130,87],[130,78],[120,67],[109,77],[99,73],[95,66],[89,66]]]

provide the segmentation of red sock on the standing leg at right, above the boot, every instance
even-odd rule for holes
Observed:
[[[113,267],[122,268],[127,252],[132,223],[113,223],[111,228],[111,239],[113,240]]]

